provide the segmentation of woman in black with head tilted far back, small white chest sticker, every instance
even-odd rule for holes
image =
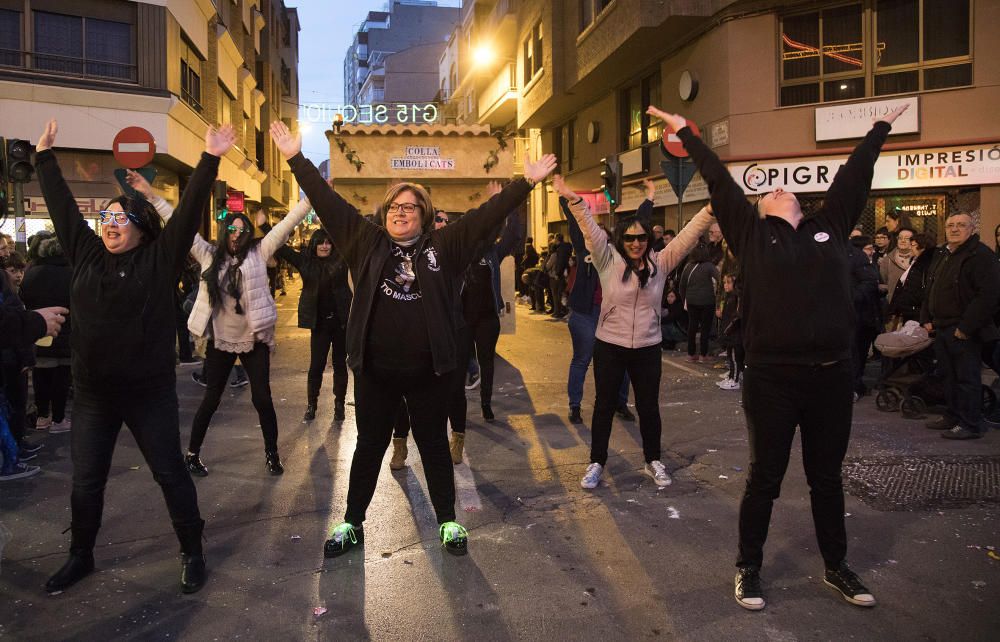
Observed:
[[[656,107],[648,110],[677,132],[691,154],[708,183],[722,233],[741,265],[743,411],[750,467],[740,504],[735,597],[746,609],[764,608],[764,541],[796,426],[802,434],[802,463],[826,566],[824,582],[851,604],[875,604],[846,562],[841,464],[854,407],[855,325],[847,244],[868,200],[882,144],[906,107],[874,123],[837,171],[822,208],[809,218],[802,215],[795,195],[783,189],[765,194],[755,208],[682,116]]]

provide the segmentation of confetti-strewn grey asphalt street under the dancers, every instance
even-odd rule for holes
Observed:
[[[202,450],[211,471],[196,478],[206,587],[180,594],[159,488],[123,431],[98,571],[46,595],[69,543],[61,531],[70,523],[71,465],[69,435],[41,435],[45,448],[32,463],[43,473],[0,487],[0,522],[13,536],[2,551],[0,639],[997,639],[1000,433],[949,442],[922,421],[879,412],[871,397],[858,403],[850,470],[887,480],[867,493],[861,481],[849,484],[847,497],[849,559],[878,599],[872,609],[822,584],[796,440],[766,548],[768,605],[751,613],[733,599],[747,466],[739,393],[714,385],[720,370],[665,354],[663,460],[674,484],[657,489],[643,474],[638,425],[615,419],[604,482],[582,490],[589,428],[566,417],[569,333],[522,306],[517,334],[498,347],[499,421],[483,422],[478,391],[468,394],[466,462],[455,474],[469,555],[441,548],[411,442],[405,470],[391,472],[385,459],[364,548],[324,560],[323,541],[345,505],[354,408],[332,422],[327,370],[317,419],[301,422],[309,343],[295,327],[297,286],[279,297],[271,373],[284,476],[264,471],[249,388],[227,392]],[[178,368],[185,442],[202,393],[190,370]],[[592,400],[590,379],[588,424]],[[908,484],[927,496],[907,499]]]

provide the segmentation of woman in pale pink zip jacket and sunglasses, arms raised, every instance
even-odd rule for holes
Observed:
[[[580,225],[592,265],[601,280],[601,316],[594,341],[594,417],[591,421],[590,465],[580,480],[597,488],[608,459],[611,420],[618,407],[622,378],[628,373],[635,391],[646,474],[657,486],[672,480],[660,461],[661,301],[667,275],[677,267],[714,219],[704,208],[660,252],[651,251],[652,225],[640,213],[622,216],[613,241],[594,220],[583,198],[556,176],[553,187],[566,199]]]

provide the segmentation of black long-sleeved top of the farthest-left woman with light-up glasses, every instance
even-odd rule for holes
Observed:
[[[163,232],[112,254],[80,214],[55,154],[35,157],[49,216],[73,266],[70,345],[78,384],[97,390],[176,384],[174,292],[218,168],[219,158],[203,153]]]

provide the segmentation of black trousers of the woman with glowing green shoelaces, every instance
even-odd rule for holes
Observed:
[[[354,373],[358,442],[351,461],[344,521],[355,526],[365,521],[401,401],[406,401],[438,523],[454,521],[454,464],[448,451],[447,406],[442,403],[453,374],[402,377],[370,367]]]

